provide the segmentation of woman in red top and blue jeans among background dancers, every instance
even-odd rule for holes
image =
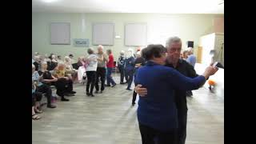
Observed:
[[[112,87],[114,87],[117,85],[111,77],[112,69],[114,68],[114,57],[111,50],[106,50],[106,54],[109,56],[109,61],[106,63],[106,86],[110,86],[111,83]]]

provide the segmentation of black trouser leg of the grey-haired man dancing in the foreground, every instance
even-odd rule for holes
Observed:
[[[186,142],[187,110],[178,110],[178,144]]]

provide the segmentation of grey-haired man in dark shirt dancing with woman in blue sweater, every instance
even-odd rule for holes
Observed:
[[[178,37],[168,38],[166,41],[167,59],[166,66],[172,67],[184,74],[186,77],[195,78],[198,76],[194,70],[194,66],[180,58],[182,50],[182,40]],[[147,94],[146,88],[138,84],[135,91],[140,96]],[[186,122],[187,122],[187,106],[186,106],[186,91],[175,90],[175,103],[178,110],[178,144],[185,144],[186,142]]]

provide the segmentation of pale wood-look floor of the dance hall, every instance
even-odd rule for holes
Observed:
[[[118,75],[115,77],[118,83]],[[131,106],[132,91],[126,86],[107,87],[103,94],[87,97],[85,86],[76,84],[70,102],[57,102],[56,109],[44,107],[42,119],[32,122],[33,144],[141,144]],[[224,143],[224,98],[201,88],[187,98],[186,144]]]

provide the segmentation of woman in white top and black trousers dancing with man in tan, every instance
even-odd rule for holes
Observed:
[[[94,97],[93,90],[94,90],[94,85],[96,81],[96,70],[97,70],[98,61],[97,61],[97,56],[96,54],[94,54],[94,50],[92,48],[89,48],[87,50],[87,53],[89,55],[86,58],[86,61],[88,63],[88,66],[86,67],[86,75],[87,75],[86,94],[87,96]]]

